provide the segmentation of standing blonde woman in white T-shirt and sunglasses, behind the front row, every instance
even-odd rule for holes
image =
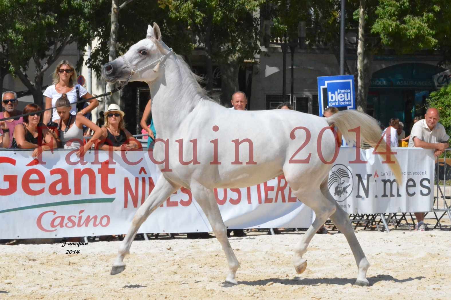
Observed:
[[[53,85],[50,85],[44,92],[46,109],[55,107],[56,100],[60,99],[62,94],[67,94],[67,98],[70,103],[77,102],[77,72],[75,71],[74,66],[69,63],[67,60],[62,60],[55,68],[55,72],[53,73]],[[92,98],[92,95],[87,92],[87,90],[79,85],[79,95],[80,98],[88,99]],[[92,99],[88,101],[90,104],[80,110],[78,113],[81,115],[85,115],[88,112],[91,112],[94,108],[99,105],[99,102],[96,99]],[[76,104],[71,105],[70,113],[75,115],[77,113]],[[47,124],[50,121],[55,121],[59,119],[58,113],[56,109],[48,110],[44,112],[44,124]]]

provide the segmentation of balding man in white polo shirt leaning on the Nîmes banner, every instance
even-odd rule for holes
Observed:
[[[438,123],[440,113],[437,108],[429,108],[424,115],[424,120],[414,124],[410,132],[409,147],[419,147],[433,149],[434,156],[441,155],[449,147],[449,135],[446,134],[445,127]],[[417,225],[415,230],[425,231],[428,227],[424,224],[424,213],[415,213]]]

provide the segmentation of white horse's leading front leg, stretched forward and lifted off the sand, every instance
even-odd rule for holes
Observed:
[[[155,188],[153,188],[152,193],[147,197],[146,201],[142,206],[138,208],[135,216],[132,220],[132,225],[127,232],[127,235],[122,241],[118,255],[113,263],[111,269],[111,275],[118,274],[125,269],[124,257],[129,254],[130,246],[132,245],[133,239],[138,232],[139,227],[147,219],[147,217],[154,211],[163,201],[165,201],[172,193],[174,193],[179,186],[173,186],[168,182],[163,175],[160,176],[156,182]]]

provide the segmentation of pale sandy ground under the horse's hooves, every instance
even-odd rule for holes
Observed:
[[[230,238],[241,264],[235,287],[222,287],[226,259],[216,239],[134,241],[115,276],[120,242],[0,245],[0,299],[451,299],[449,231],[358,231],[370,287],[353,286],[357,267],[341,233],[316,234],[307,270],[296,274],[292,249],[303,234]]]

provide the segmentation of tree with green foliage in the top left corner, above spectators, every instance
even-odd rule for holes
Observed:
[[[9,73],[18,76],[42,104],[43,74],[65,47],[76,43],[79,50],[95,35],[92,20],[105,0],[2,0],[0,1],[0,57]],[[30,61],[36,69],[32,78]],[[80,63],[80,62],[78,62]],[[5,66],[3,66],[5,67]]]

